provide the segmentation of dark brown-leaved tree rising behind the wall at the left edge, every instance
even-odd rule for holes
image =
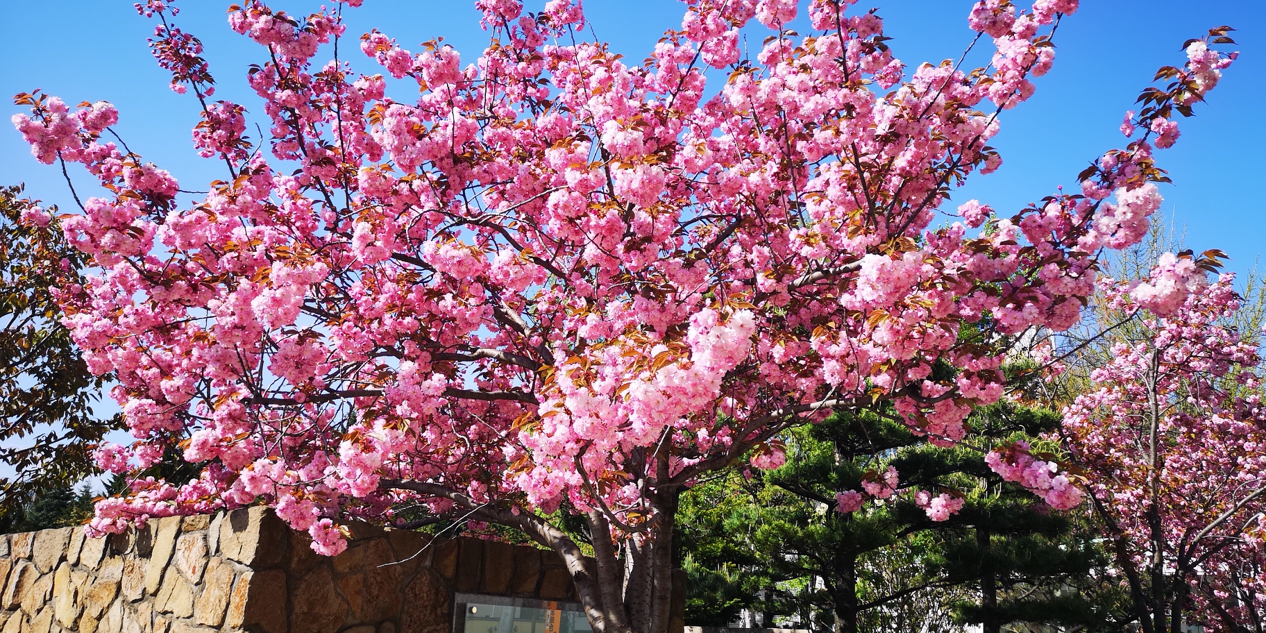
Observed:
[[[82,287],[85,256],[54,216],[0,187],[0,514],[52,503],[100,472],[92,448],[118,418],[94,415],[109,376],[89,372],[62,325],[57,296]],[[33,505],[35,504],[35,505]]]

